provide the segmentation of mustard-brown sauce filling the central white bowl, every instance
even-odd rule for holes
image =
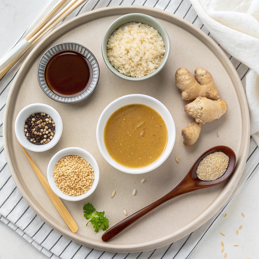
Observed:
[[[106,123],[104,142],[119,164],[139,168],[156,161],[167,143],[167,127],[152,108],[131,104],[114,112]]]

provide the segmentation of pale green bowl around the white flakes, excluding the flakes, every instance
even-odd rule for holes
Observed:
[[[162,36],[166,48],[166,52],[164,54],[164,58],[160,66],[153,71],[152,73],[142,76],[142,77],[131,77],[131,76],[126,76],[124,74],[121,74],[118,70],[116,70],[110,63],[108,57],[107,57],[107,42],[111,36],[111,34],[117,30],[121,25],[129,22],[140,22],[143,24],[148,24],[149,26],[152,26],[154,29],[156,29]],[[115,20],[106,30],[104,36],[103,36],[103,42],[102,42],[102,53],[103,53],[103,59],[106,64],[106,66],[112,71],[113,74],[116,76],[128,80],[128,81],[143,81],[146,80],[156,74],[158,74],[164,65],[166,64],[169,54],[170,54],[170,39],[169,35],[164,28],[164,26],[155,18],[149,15],[144,15],[143,13],[129,13],[127,15],[123,15],[117,20]]]

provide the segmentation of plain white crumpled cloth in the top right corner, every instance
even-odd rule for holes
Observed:
[[[259,144],[259,1],[190,0],[213,38],[250,68],[246,76],[251,134]]]

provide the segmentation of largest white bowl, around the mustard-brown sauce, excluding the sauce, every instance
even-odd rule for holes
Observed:
[[[107,120],[119,108],[129,104],[144,104],[154,109],[163,118],[168,132],[168,140],[167,140],[167,144],[166,144],[166,148],[164,149],[164,152],[152,164],[141,168],[125,167],[117,163],[116,161],[114,161],[112,157],[109,155],[104,143],[104,128],[107,123]],[[166,161],[166,159],[170,155],[175,143],[175,123],[167,107],[164,106],[161,102],[159,102],[159,100],[147,95],[140,95],[140,94],[125,95],[114,100],[104,109],[97,123],[96,137],[97,137],[97,143],[98,143],[100,152],[102,153],[104,159],[111,166],[125,173],[143,174],[159,167],[164,161]]]

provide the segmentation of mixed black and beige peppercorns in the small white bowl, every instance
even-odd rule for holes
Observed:
[[[55,124],[48,123],[49,126],[45,126],[45,129],[47,127],[47,130],[43,130],[41,127],[48,122],[51,117],[49,117],[46,113],[33,113],[31,114],[25,121],[24,125],[24,134],[28,141],[35,145],[44,145],[51,141],[53,138],[49,138],[48,133],[51,132],[54,136],[55,134]],[[45,131],[45,134],[43,135],[42,132]],[[47,135],[46,135],[47,134]]]

